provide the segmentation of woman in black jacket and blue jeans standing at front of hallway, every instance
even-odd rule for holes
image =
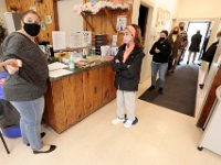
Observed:
[[[150,90],[156,88],[157,72],[159,72],[159,94],[164,92],[165,76],[168,67],[168,59],[171,53],[171,45],[168,41],[168,31],[161,31],[159,40],[149,51],[152,55],[151,62],[151,86]]]

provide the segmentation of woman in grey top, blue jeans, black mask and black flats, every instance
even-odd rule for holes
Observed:
[[[40,133],[44,111],[44,94],[49,68],[46,55],[35,43],[41,30],[40,15],[29,10],[22,15],[22,29],[11,33],[2,43],[3,61],[15,61],[7,65],[9,73],[3,85],[4,99],[20,113],[22,141],[30,145],[33,154],[50,153],[55,145],[43,144],[45,133]]]

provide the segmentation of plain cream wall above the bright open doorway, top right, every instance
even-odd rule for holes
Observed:
[[[176,18],[221,18],[220,0],[180,0]]]

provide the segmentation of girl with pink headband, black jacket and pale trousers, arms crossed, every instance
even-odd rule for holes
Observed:
[[[140,29],[136,24],[128,25],[124,31],[124,44],[112,63],[117,89],[117,118],[113,124],[124,123],[125,128],[130,128],[138,121],[135,101],[144,56]]]

